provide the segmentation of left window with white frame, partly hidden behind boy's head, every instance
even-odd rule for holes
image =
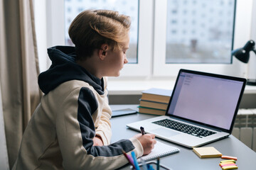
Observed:
[[[90,0],[69,0],[66,1],[67,4],[72,4],[67,6],[65,9],[65,3],[63,0],[47,1],[47,37],[48,37],[48,47],[53,45],[65,45],[65,36],[67,33],[68,24],[65,26],[65,22],[69,23],[75,18],[76,14],[68,14],[66,17],[63,13],[67,11],[74,11],[78,13],[81,6],[86,6],[82,4]],[[39,2],[36,2],[39,3]],[[98,4],[100,3],[100,7]],[[97,4],[97,5],[95,5]],[[104,6],[105,4],[105,6]],[[109,4],[112,4],[112,6]],[[132,16],[132,30],[131,30],[131,42],[130,50],[130,64],[126,64],[122,70],[122,76],[124,77],[147,77],[151,72],[151,56],[152,56],[152,39],[153,39],[153,0],[91,0],[90,6],[86,8],[112,8],[114,10],[123,11],[124,14]],[[58,8],[56,8],[58,6]],[[75,9],[71,6],[77,6]],[[127,6],[129,8],[127,9]],[[143,7],[142,7],[143,6]],[[71,8],[71,9],[69,9]],[[129,13],[128,13],[129,12]],[[120,12],[122,13],[122,12]],[[139,15],[138,15],[139,13]],[[65,20],[65,18],[67,20]],[[139,30],[138,30],[139,29]],[[67,39],[68,41],[68,39]],[[137,44],[136,44],[137,43]],[[137,49],[137,50],[136,50]]]

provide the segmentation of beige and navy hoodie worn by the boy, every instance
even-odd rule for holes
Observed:
[[[142,156],[132,137],[110,144],[111,109],[107,79],[99,79],[75,62],[75,47],[48,49],[52,64],[38,77],[45,94],[23,134],[13,169],[117,169],[122,154]],[[93,146],[99,135],[104,146]]]

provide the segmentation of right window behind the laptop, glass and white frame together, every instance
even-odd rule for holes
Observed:
[[[250,34],[251,16],[248,15],[247,18],[245,8],[251,6],[252,1],[248,4],[242,4],[243,2],[238,0],[239,5],[235,6],[235,0],[156,1],[154,61],[157,62],[154,62],[153,75],[175,77],[178,70],[183,68],[245,76],[246,68],[238,61],[233,61],[231,56],[233,42],[234,48],[237,48],[243,46],[238,45],[240,41],[245,43],[250,39],[250,35],[240,35],[245,31]],[[236,18],[235,7],[238,14]],[[176,13],[170,13],[174,8]],[[229,13],[224,16],[227,11]],[[245,27],[249,30],[241,29],[242,18],[246,18]],[[178,20],[178,26],[168,22],[174,19]]]

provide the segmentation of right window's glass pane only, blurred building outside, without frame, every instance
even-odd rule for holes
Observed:
[[[198,0],[183,4],[183,1],[167,1],[166,63],[230,64],[235,1],[230,2]],[[197,10],[201,6],[203,8]]]

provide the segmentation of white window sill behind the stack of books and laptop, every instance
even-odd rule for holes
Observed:
[[[107,89],[110,95],[140,95],[150,88],[173,89],[172,80],[109,80]],[[256,86],[245,86],[245,94],[256,94]]]

